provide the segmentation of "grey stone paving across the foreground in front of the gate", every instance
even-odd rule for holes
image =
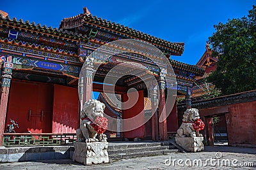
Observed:
[[[216,153],[218,154],[216,155]],[[216,158],[216,156],[218,158]],[[180,159],[180,160],[179,160]],[[195,160],[196,159],[196,160]],[[202,160],[202,166],[200,165]],[[195,162],[195,166],[193,166]],[[205,162],[207,166],[204,166]],[[228,166],[230,162],[230,166]],[[253,163],[253,166],[241,166]],[[180,164],[180,166],[178,165]],[[167,165],[166,165],[167,164]],[[174,164],[174,166],[173,166]],[[191,164],[191,165],[190,165]],[[196,166],[198,164],[199,166]],[[224,165],[224,166],[223,166]],[[204,152],[170,153],[154,157],[116,160],[109,164],[84,166],[70,159],[12,162],[0,164],[0,169],[256,169],[256,148],[205,146]]]

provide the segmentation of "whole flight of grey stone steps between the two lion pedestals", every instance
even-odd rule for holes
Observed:
[[[177,153],[171,143],[109,143],[108,153],[112,160],[127,159],[133,157],[147,157],[164,155],[166,153]]]

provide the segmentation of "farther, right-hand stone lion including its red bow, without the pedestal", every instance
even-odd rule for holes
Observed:
[[[200,137],[198,131],[204,129],[204,122],[200,119],[199,110],[196,108],[188,109],[184,112],[182,124],[177,130],[177,137]]]

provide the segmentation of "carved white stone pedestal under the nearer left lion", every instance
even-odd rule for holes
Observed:
[[[108,163],[108,142],[74,143],[73,161],[84,165]]]

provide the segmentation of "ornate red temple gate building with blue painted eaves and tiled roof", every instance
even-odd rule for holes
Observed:
[[[1,145],[4,129],[10,124],[9,119],[18,122],[19,129],[15,129],[16,132],[76,133],[81,111],[78,93],[81,68],[95,49],[118,39],[145,41],[161,50],[172,64],[177,80],[177,96],[186,96],[187,106],[190,107],[193,83],[196,77],[204,75],[205,69],[171,59],[172,55],[182,55],[184,43],[172,43],[156,38],[124,25],[93,17],[87,8],[83,10],[84,12],[79,15],[63,18],[58,29],[28,20],[17,20],[4,12],[0,13]],[[93,60],[86,69],[84,83],[87,89],[83,100],[92,98],[92,92],[100,92],[98,99],[106,104],[109,117],[122,120],[136,116],[141,111],[144,112],[143,118],[150,117],[141,127],[129,132],[109,131],[109,136],[155,141],[168,139],[168,134],[178,129],[178,119],[177,106],[174,104],[166,120],[158,121],[159,113],[164,113],[165,110],[166,90],[169,88],[166,81],[169,80],[168,76],[171,76],[163,77],[161,69],[157,67],[163,65],[163,57],[159,57],[157,53],[138,52],[129,46],[113,45],[113,48],[126,49],[129,52],[125,55],[116,54],[104,63],[101,62],[101,55],[93,55]],[[108,52],[107,48],[104,50]],[[103,64],[99,65],[99,62]],[[145,84],[141,80],[147,79],[147,74],[142,71],[141,78],[132,74],[122,76],[125,71],[131,71],[129,67],[124,67],[112,75],[118,79],[114,84],[115,94],[103,93],[104,77],[113,67],[127,62],[143,65],[147,67],[148,73],[154,75],[159,85],[158,106],[154,96],[147,94]],[[93,80],[91,74],[95,74]],[[126,101],[129,89],[137,90],[138,102],[134,106],[123,110],[118,103],[111,103],[113,97],[119,101]],[[156,108],[156,111],[151,111]]]

